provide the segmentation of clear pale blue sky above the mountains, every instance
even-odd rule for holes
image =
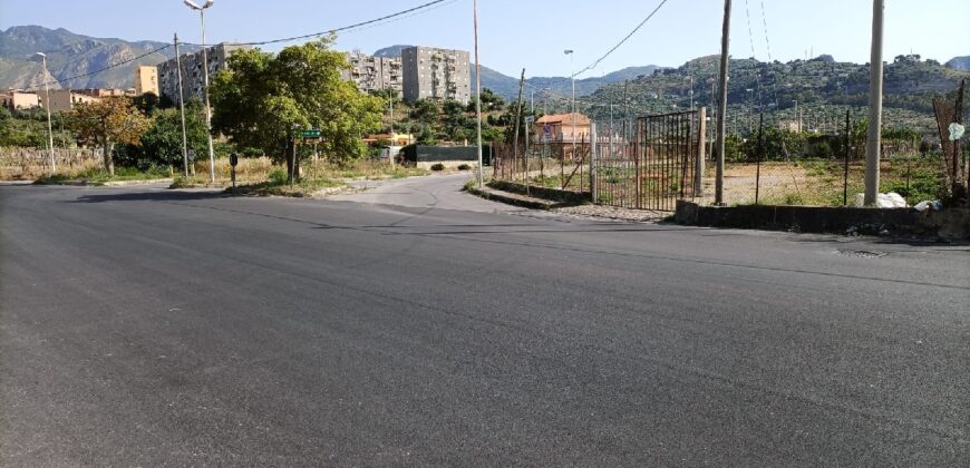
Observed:
[[[215,0],[206,40],[259,41],[326,31],[430,0]],[[604,56],[663,0],[479,0],[481,62],[508,76],[569,76]],[[869,62],[869,0],[734,0],[730,53],[759,60],[828,53]],[[473,1],[345,32],[337,48],[374,52],[402,43],[473,50]],[[667,0],[627,42],[580,78],[624,67],[680,66],[720,50],[722,0]],[[39,25],[94,37],[201,42],[198,14],[181,0],[0,0],[0,29]],[[970,0],[885,0],[884,60],[904,53],[944,62],[970,56]],[[299,42],[295,42],[299,43]],[[285,45],[283,45],[285,46]],[[266,50],[279,50],[283,46]],[[564,49],[574,53],[566,56]],[[474,61],[474,55],[472,56]],[[572,61],[571,61],[572,60]]]

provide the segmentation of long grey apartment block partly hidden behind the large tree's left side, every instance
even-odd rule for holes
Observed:
[[[215,76],[220,70],[226,69],[226,59],[239,50],[252,49],[250,46],[222,42],[208,48],[208,79]],[[183,53],[182,60],[182,91],[185,94],[185,100],[192,98],[203,99],[203,90],[205,89],[205,80],[202,70],[202,50],[194,53]],[[178,71],[176,69],[176,60],[169,59],[158,64],[158,90],[161,96],[172,99],[173,103],[181,101],[178,96]]]

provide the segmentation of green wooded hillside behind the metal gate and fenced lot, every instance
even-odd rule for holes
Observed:
[[[657,70],[631,80],[623,106],[623,84],[608,85],[582,99],[581,107],[596,119],[609,119],[610,103],[614,117],[663,114],[690,106],[691,82],[696,106],[710,106],[711,86],[718,72],[718,57],[691,60],[678,68]],[[931,134],[932,98],[952,92],[970,72],[945,67],[920,56],[899,56],[885,67],[885,124]],[[831,56],[787,64],[766,64],[754,59],[731,59],[728,86],[731,125],[739,133],[753,127],[759,111],[774,125],[803,116],[803,128],[833,131],[844,121],[846,109],[853,119],[865,115],[869,103],[869,65],[840,62]],[[797,103],[797,104],[796,104]],[[560,100],[557,108],[566,101]]]

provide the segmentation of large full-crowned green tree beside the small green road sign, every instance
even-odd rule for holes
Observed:
[[[262,149],[278,160],[285,155],[295,170],[295,136],[320,129],[320,149],[333,160],[362,157],[361,136],[380,129],[384,104],[340,78],[348,68],[334,37],[292,46],[279,55],[259,49],[239,51],[229,70],[215,76],[210,90],[214,131],[237,147]]]

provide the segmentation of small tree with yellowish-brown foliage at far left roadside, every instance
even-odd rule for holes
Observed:
[[[77,134],[79,143],[104,148],[105,170],[115,175],[111,158],[115,144],[140,144],[142,135],[151,125],[127,97],[101,98],[90,104],[79,104],[67,115],[68,125]]]

